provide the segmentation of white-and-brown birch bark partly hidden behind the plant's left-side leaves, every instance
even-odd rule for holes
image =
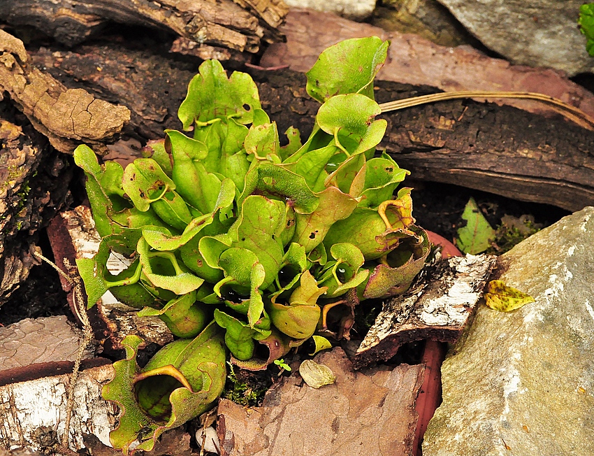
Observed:
[[[86,206],[64,211],[52,220],[48,227],[48,236],[59,267],[64,267],[64,258],[75,264],[76,258],[92,258],[95,255],[101,238],[94,227],[91,211]],[[122,261],[125,259],[112,254],[108,260],[108,269],[112,273],[122,271],[127,266]],[[71,292],[65,280],[62,281],[62,287]],[[68,300],[72,306],[70,294]],[[121,342],[129,334],[136,334],[144,340],[140,348],[145,348],[150,343],[162,346],[173,341],[173,335],[161,319],[153,316],[138,317],[137,311],[138,309],[119,303],[110,292],[89,309],[95,337],[103,345],[104,352],[123,350]]]

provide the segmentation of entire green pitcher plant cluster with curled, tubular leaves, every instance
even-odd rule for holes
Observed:
[[[101,235],[96,256],[77,262],[89,305],[109,290],[180,338],[144,369],[140,339],[124,339],[126,359],[103,390],[123,409],[115,448],[150,450],[207,409],[224,387],[226,350],[264,369],[314,333],[348,334],[359,301],[400,294],[419,272],[428,238],[410,188],[394,197],[408,171],[375,156],[386,121],[375,118],[373,79],[388,45],[354,39],[320,55],[307,93],[321,106],[303,144],[291,128],[281,146],[252,78],[228,78],[210,60],[178,111],[191,136],[166,131],[126,169],[75,150]],[[132,260],[117,276],[112,253]]]

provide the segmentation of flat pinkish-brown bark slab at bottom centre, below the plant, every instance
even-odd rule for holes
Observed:
[[[314,361],[328,366],[336,383],[315,390],[294,374],[269,390],[261,407],[219,402],[222,455],[413,454],[424,366],[354,371],[342,348]]]

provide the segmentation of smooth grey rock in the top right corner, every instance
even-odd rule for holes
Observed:
[[[487,48],[514,64],[593,72],[577,27],[585,0],[439,0]]]

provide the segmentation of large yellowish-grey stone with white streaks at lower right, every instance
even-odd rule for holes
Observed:
[[[442,366],[423,456],[594,455],[594,207],[500,257],[535,302],[481,306]]]

